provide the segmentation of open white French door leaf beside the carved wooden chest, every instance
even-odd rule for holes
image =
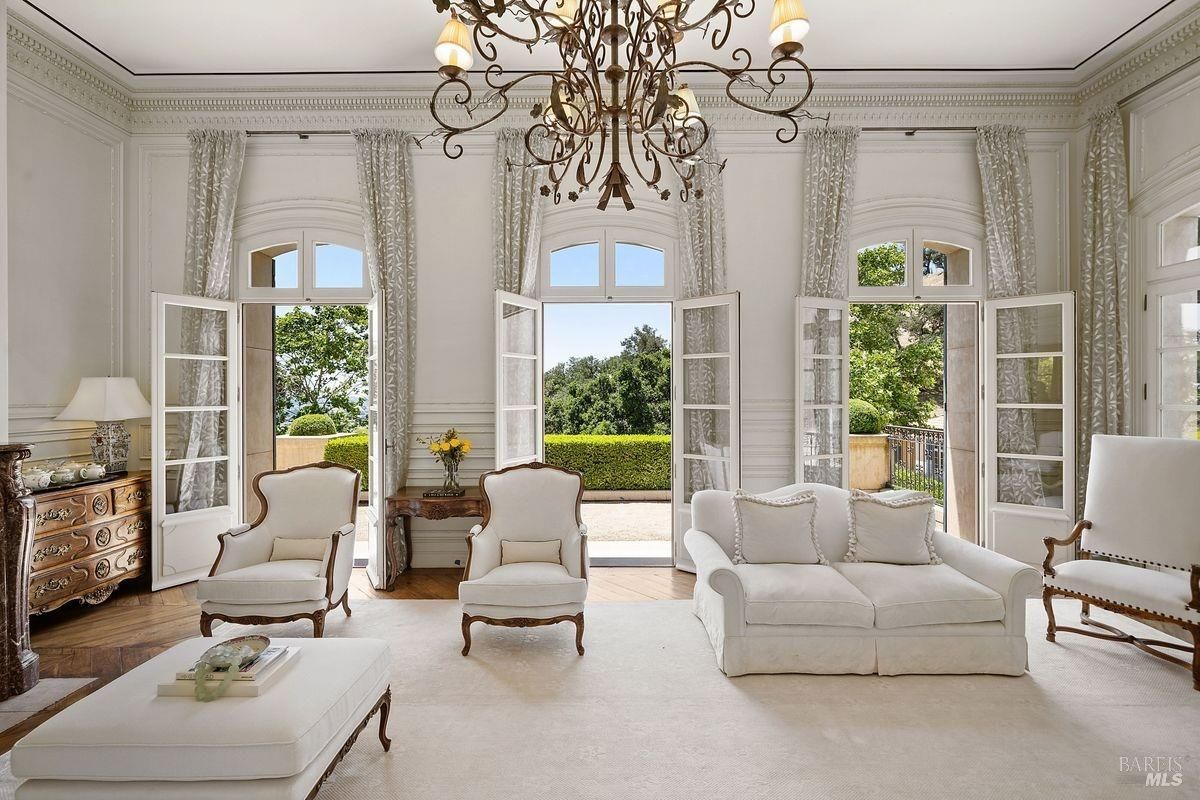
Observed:
[[[236,305],[154,294],[151,588],[208,575],[241,522]]]

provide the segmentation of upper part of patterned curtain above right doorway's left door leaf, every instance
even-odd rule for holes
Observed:
[[[858,128],[812,128],[804,134],[804,258],[800,294],[846,299],[850,212],[858,169]]]

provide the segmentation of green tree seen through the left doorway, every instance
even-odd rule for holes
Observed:
[[[328,414],[340,432],[366,422],[367,309],[295,306],[275,318],[275,428]]]

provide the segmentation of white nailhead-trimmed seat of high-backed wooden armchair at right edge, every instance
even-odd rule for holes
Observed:
[[[1045,585],[1110,600],[1178,620],[1200,622],[1200,612],[1187,608],[1192,587],[1187,572],[1147,570],[1117,561],[1080,559],[1055,567]]]

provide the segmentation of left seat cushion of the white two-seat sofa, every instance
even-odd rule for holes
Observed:
[[[830,566],[736,564],[749,625],[871,627],[871,601]]]

